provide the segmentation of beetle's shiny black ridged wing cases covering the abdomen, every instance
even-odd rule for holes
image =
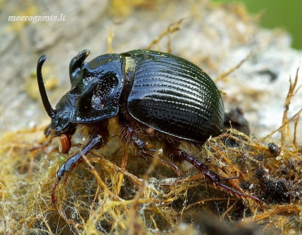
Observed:
[[[208,75],[191,62],[162,52],[127,52],[136,60],[130,115],[155,130],[203,143],[219,135],[224,107]]]

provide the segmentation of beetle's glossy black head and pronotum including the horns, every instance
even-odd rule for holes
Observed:
[[[86,63],[89,51],[81,51],[70,63],[72,88],[53,109],[47,98],[42,78],[42,65],[46,56],[37,64],[37,78],[44,108],[52,118],[45,130],[46,136],[73,134],[76,124],[91,123],[114,117],[118,112],[119,98],[125,78],[125,58],[117,54],[99,56]]]

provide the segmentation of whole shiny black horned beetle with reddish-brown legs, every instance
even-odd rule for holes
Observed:
[[[132,142],[147,162],[148,157],[155,157],[151,152],[157,151],[148,148],[138,131],[165,142],[167,157],[180,163],[190,162],[221,190],[259,202],[257,197],[245,195],[220,182],[238,177],[221,178],[207,165],[177,149],[182,140],[202,145],[210,136],[222,132],[223,101],[216,85],[202,69],[186,59],[143,49],[106,54],[84,62],[88,55],[89,51],[83,50],[71,60],[72,87],[55,109],[49,103],[42,78],[41,68],[46,56],[38,60],[39,91],[45,110],[52,118],[45,130],[46,136],[63,136],[63,141],[81,124],[87,127],[90,137],[81,151],[58,169],[52,192],[54,205],[55,189],[64,173],[82,162],[82,155],[108,142],[110,118],[118,120],[120,139]],[[69,151],[70,144],[66,146],[64,152]],[[159,160],[181,175],[176,165]]]

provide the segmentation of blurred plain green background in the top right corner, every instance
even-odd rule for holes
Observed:
[[[292,47],[302,49],[302,0],[213,0],[244,2],[250,13],[264,12],[264,28],[283,28],[292,35]]]

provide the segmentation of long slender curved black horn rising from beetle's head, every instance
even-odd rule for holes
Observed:
[[[56,112],[52,108],[52,106],[51,106],[51,104],[50,104],[50,102],[47,98],[47,94],[46,94],[46,90],[45,90],[45,86],[44,86],[44,81],[43,81],[43,77],[42,77],[42,65],[45,62],[45,60],[46,60],[46,55],[43,55],[43,56],[40,57],[40,59],[38,60],[38,63],[37,63],[38,86],[39,86],[39,91],[40,91],[40,95],[41,95],[41,98],[42,98],[44,108],[45,108],[48,116],[53,119],[56,116]]]

